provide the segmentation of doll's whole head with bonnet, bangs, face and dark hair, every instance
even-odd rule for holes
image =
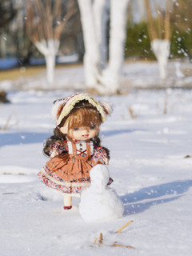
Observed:
[[[106,120],[106,115],[112,110],[108,103],[97,102],[89,94],[74,94],[54,102],[51,110],[56,121],[54,135],[46,140],[44,154],[50,156],[50,145],[65,141],[66,137],[76,140],[93,138],[99,146],[99,126]]]

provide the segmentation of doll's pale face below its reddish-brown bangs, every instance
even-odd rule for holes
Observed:
[[[87,139],[94,138],[98,134],[97,126],[90,127],[79,127],[69,130],[70,138],[76,139],[78,141],[86,141]]]

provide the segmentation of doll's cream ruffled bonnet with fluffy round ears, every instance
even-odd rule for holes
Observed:
[[[73,94],[67,98],[62,98],[56,100],[52,106],[51,115],[54,120],[56,120],[56,125],[62,122],[62,119],[65,118],[70,111],[73,110],[74,105],[82,100],[90,102],[91,105],[95,106],[98,112],[101,114],[102,122],[106,121],[106,115],[112,113],[112,107],[107,102],[97,102],[90,94],[77,93]],[[60,111],[62,108],[62,111]],[[60,114],[59,114],[60,113]]]

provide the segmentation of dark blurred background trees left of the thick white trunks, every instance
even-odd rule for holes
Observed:
[[[66,11],[66,0],[62,0],[62,15]],[[78,2],[74,1],[78,9]],[[18,64],[29,64],[31,58],[43,55],[30,41],[26,33],[26,10],[23,0],[1,0],[0,2],[0,58],[17,58]],[[59,55],[77,53],[82,60],[84,53],[80,13],[76,11],[61,34]]]

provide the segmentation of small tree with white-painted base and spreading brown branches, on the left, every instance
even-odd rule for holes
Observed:
[[[62,16],[61,0],[26,0],[26,31],[46,59],[47,81],[54,82],[55,56],[63,27],[76,10],[70,2],[66,15]]]

